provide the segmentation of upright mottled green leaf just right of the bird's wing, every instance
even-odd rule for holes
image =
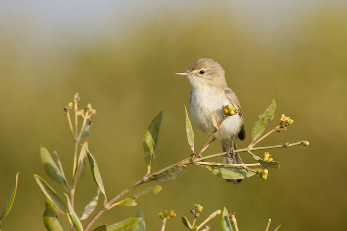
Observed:
[[[259,116],[259,120],[255,122],[252,126],[253,141],[258,139],[263,134],[266,126],[268,126],[268,124],[272,121],[272,119],[274,118],[275,109],[276,109],[276,102],[273,99],[272,103],[265,110],[265,112]]]

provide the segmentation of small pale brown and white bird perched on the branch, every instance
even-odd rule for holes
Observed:
[[[188,79],[192,86],[190,93],[190,117],[193,125],[206,134],[215,130],[212,114],[215,111],[218,121],[224,114],[222,106],[231,105],[236,108],[236,115],[228,116],[214,134],[215,139],[220,139],[223,152],[228,152],[223,157],[227,164],[241,164],[242,160],[236,148],[236,137],[245,139],[245,127],[240,102],[234,91],[228,87],[225,79],[225,71],[222,66],[213,59],[199,58],[186,71],[177,72]],[[226,180],[233,184],[242,180]]]

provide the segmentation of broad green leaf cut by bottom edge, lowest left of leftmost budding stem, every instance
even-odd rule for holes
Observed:
[[[43,220],[46,229],[48,231],[64,231],[64,228],[58,220],[58,210],[48,198],[46,198],[45,207]]]

